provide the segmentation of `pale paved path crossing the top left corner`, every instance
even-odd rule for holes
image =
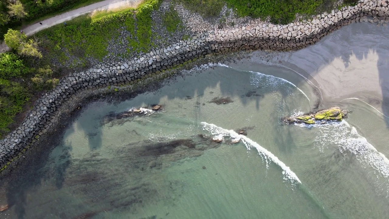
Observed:
[[[75,9],[73,11],[65,12],[63,14],[54,16],[52,18],[48,18],[43,21],[39,21],[33,25],[27,26],[26,28],[23,28],[23,32],[25,32],[26,35],[30,36],[35,34],[36,32],[39,32],[40,30],[46,29],[48,27],[64,23],[65,21],[71,20],[75,17],[78,17],[82,14],[88,14],[95,11],[105,11],[105,10],[112,10],[117,9],[121,7],[137,7],[137,5],[142,2],[142,0],[105,0],[102,2],[97,2],[95,4],[91,4],[85,7],[81,7],[78,9]],[[42,25],[40,24],[42,23]],[[0,53],[3,53],[5,51],[9,51],[9,48],[5,43],[3,42],[0,45]]]

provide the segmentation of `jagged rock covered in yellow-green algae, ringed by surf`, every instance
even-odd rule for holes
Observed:
[[[316,113],[307,113],[305,115],[292,116],[284,118],[286,124],[290,123],[305,123],[305,124],[324,124],[329,121],[342,121],[347,118],[347,110],[340,110],[339,106],[323,109]]]

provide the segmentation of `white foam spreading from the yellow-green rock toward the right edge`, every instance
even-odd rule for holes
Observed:
[[[389,178],[389,160],[377,151],[366,138],[359,135],[355,127],[345,120],[328,124],[296,124],[300,127],[315,128],[319,131],[315,138],[315,147],[321,151],[328,145],[338,146],[340,152],[351,152],[356,158],[378,171],[379,175]],[[377,177],[379,177],[377,175]]]

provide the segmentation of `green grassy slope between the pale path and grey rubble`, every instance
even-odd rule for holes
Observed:
[[[129,46],[136,51],[146,52],[151,48],[151,12],[159,7],[159,2],[149,0],[139,5],[138,9],[80,16],[68,21],[67,26],[56,25],[35,36],[43,42],[48,56],[62,64],[69,60],[69,55],[76,56],[81,63],[86,57],[101,60],[108,55],[109,41],[118,39],[123,25],[131,33]]]

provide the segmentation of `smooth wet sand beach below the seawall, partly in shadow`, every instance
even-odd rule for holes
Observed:
[[[354,97],[388,115],[388,57],[389,27],[354,23],[313,46],[268,61],[307,77],[320,88],[325,103]]]

